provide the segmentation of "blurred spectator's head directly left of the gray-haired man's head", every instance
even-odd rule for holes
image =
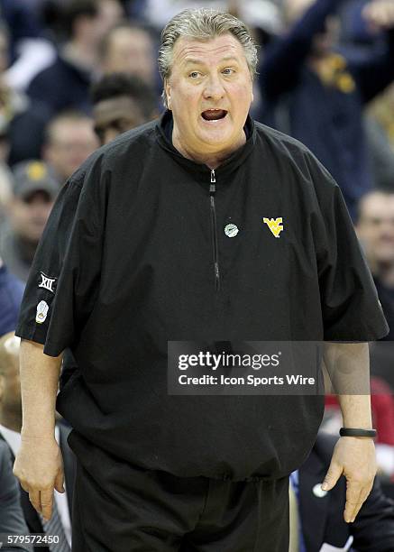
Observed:
[[[156,87],[157,70],[150,32],[131,23],[120,23],[107,32],[100,44],[101,69],[105,75],[137,75]]]

